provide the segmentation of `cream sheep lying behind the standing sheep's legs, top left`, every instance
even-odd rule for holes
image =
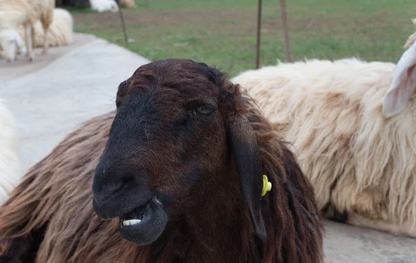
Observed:
[[[40,20],[34,26],[35,36],[33,46],[44,46],[44,30]],[[24,28],[19,28],[19,34],[24,35]],[[67,46],[73,43],[73,17],[70,12],[62,8],[53,9],[53,20],[49,26],[48,45]]]

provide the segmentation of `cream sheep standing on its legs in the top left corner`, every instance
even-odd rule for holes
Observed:
[[[40,19],[44,28],[45,40],[42,54],[48,52],[47,35],[49,25],[52,22],[54,7],[55,0],[0,0],[0,32],[6,30],[6,33],[0,34],[0,46],[8,61],[15,60],[16,54],[12,52],[14,49],[10,46],[16,45],[15,37],[21,25],[24,26],[25,30],[24,42],[27,47],[27,56],[31,61],[35,60],[32,38],[33,26],[38,19]]]

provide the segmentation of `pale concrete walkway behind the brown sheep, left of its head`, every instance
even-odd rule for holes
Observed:
[[[114,109],[119,83],[149,61],[92,35],[72,46],[49,48],[35,62],[0,60],[0,97],[19,123],[21,160],[28,169],[76,125]]]

